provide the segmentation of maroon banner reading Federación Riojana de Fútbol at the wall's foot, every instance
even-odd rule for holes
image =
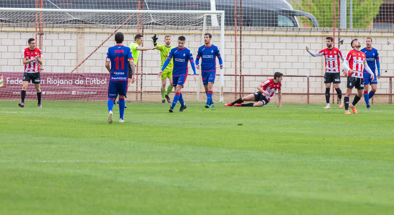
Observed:
[[[20,100],[23,72],[0,72],[0,100]],[[107,100],[110,73],[40,72],[42,99]],[[26,100],[37,99],[29,83]]]

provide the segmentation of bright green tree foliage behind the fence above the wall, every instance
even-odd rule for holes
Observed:
[[[336,27],[339,26],[339,4],[336,0]],[[353,28],[372,28],[372,21],[379,13],[382,0],[353,0]],[[293,8],[306,11],[316,17],[321,28],[333,27],[334,0],[299,0],[293,2]],[[349,27],[350,4],[347,2],[347,26]],[[312,26],[305,17],[299,17],[301,26]]]

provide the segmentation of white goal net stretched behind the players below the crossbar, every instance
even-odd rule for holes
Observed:
[[[23,9],[13,10],[15,11],[0,11],[0,34],[3,38],[7,38],[2,39],[2,43],[7,43],[5,45],[10,47],[8,51],[13,52],[9,60],[11,64],[2,65],[2,71],[19,72],[19,79],[17,76],[13,76],[12,79],[13,83],[19,82],[22,79],[23,71],[20,60],[22,50],[28,46],[28,38],[35,38],[37,48],[43,52],[44,64],[41,67],[41,72],[43,75],[53,74],[51,77],[45,76],[46,79],[42,80],[41,88],[47,92],[49,90],[59,91],[59,89],[54,90],[55,86],[47,84],[51,82],[50,80],[55,80],[55,82],[57,80],[57,84],[62,82],[64,85],[59,84],[59,88],[67,89],[63,91],[67,91],[66,94],[70,94],[70,96],[56,97],[56,94],[51,94],[54,95],[54,98],[60,99],[85,99],[86,93],[88,95],[97,93],[95,95],[100,95],[100,99],[105,99],[107,96],[105,93],[91,91],[93,86],[74,86],[78,77],[67,73],[103,73],[109,77],[108,71],[104,67],[106,52],[109,47],[115,45],[113,35],[118,31],[125,35],[124,45],[127,46],[134,41],[136,34],[144,36],[144,43],[141,44],[144,47],[153,47],[151,37],[155,34],[159,38],[158,45],[164,45],[164,37],[169,35],[172,39],[171,45],[175,47],[177,46],[177,38],[185,36],[185,47],[191,49],[194,57],[198,47],[203,45],[205,32],[214,35],[212,42],[218,47],[221,47],[220,37],[224,32],[220,11],[212,13],[201,11],[190,11],[190,13],[187,11],[173,11],[173,13],[163,11],[160,13],[152,11],[149,13],[145,10],[132,12],[116,10],[117,13],[115,13],[114,10],[96,10],[93,13],[91,10],[63,10],[61,12],[60,9],[41,8],[36,9],[37,11],[29,11],[32,10],[31,8],[24,9],[25,11]],[[219,24],[222,24],[222,28]],[[160,51],[158,50],[140,52],[136,64],[139,74],[138,80],[128,89],[130,95],[134,96],[135,94],[136,99],[141,99],[143,93],[160,93],[161,80],[156,75],[160,70],[160,59]],[[189,73],[192,73],[190,64]],[[203,91],[200,83],[201,77],[197,83],[191,79],[193,78],[188,78],[186,83],[188,87],[185,91],[197,95],[197,92]],[[4,78],[4,84],[8,86],[10,80]],[[84,79],[84,81],[86,83],[87,80]],[[68,86],[68,83],[71,83],[71,86]],[[168,81],[166,85],[169,85]],[[19,89],[15,85],[12,87]],[[75,87],[78,87],[81,92],[79,93]],[[98,84],[97,87],[105,88],[105,91],[107,86]],[[30,86],[28,91],[28,95],[34,96],[33,86]],[[65,93],[60,95],[62,94]],[[219,100],[219,93],[216,93],[215,97]],[[15,98],[11,96],[9,99]]]

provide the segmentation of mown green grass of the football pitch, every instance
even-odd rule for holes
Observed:
[[[394,214],[394,108],[0,102],[1,214]],[[179,105],[175,108],[178,110]]]

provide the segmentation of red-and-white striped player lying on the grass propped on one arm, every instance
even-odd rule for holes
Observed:
[[[267,79],[257,88],[257,92],[249,94],[245,97],[237,99],[232,103],[227,103],[224,106],[236,106],[236,107],[261,107],[269,103],[276,91],[278,91],[279,104],[278,107],[282,107],[282,79],[283,74],[280,72],[275,72],[273,74],[273,79]],[[264,95],[265,94],[265,95]],[[256,103],[242,104],[244,101],[257,101]]]

